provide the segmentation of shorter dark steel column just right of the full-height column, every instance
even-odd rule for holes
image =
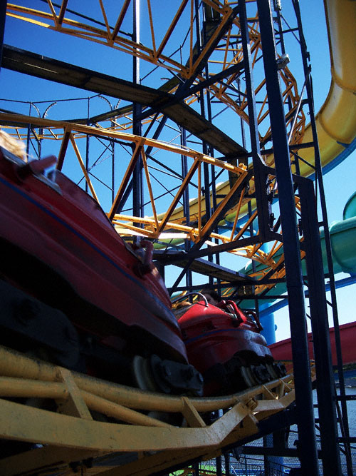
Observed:
[[[335,383],[333,364],[331,362],[328,310],[318,216],[315,207],[313,181],[304,178],[298,181],[298,183],[317,377],[323,475],[337,476],[341,475],[340,447],[337,442]]]

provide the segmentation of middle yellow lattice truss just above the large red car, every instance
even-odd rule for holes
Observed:
[[[61,143],[60,154],[63,152],[63,148],[66,148],[68,156],[68,158],[65,158],[64,160],[64,165],[66,164],[66,161],[68,161],[68,163],[73,163],[73,160],[75,161],[76,159],[80,166],[80,170],[85,177],[85,181],[88,184],[88,191],[90,191],[91,195],[98,201],[98,203],[100,203],[100,194],[95,190],[93,179],[90,178],[90,173],[88,173],[85,168],[85,161],[83,159],[84,152],[80,153],[80,140],[85,136],[93,134],[97,137],[100,136],[102,138],[125,141],[128,146],[134,144],[134,146],[132,146],[132,153],[130,153],[127,158],[126,168],[122,169],[121,183],[117,187],[115,199],[112,201],[110,211],[108,212],[108,217],[121,236],[142,236],[150,238],[151,240],[160,243],[159,246],[161,248],[169,246],[172,240],[178,240],[179,242],[182,242],[182,240],[188,240],[190,243],[194,244],[198,243],[201,238],[204,237],[205,245],[209,245],[212,252],[214,252],[214,247],[216,247],[216,245],[235,243],[235,246],[231,247],[229,253],[246,258],[246,260],[254,260],[256,263],[261,265],[256,273],[251,274],[251,277],[256,278],[256,280],[261,279],[271,270],[275,270],[270,276],[271,279],[284,277],[285,269],[283,265],[284,257],[281,240],[275,240],[271,243],[271,249],[268,252],[261,249],[262,243],[256,243],[254,245],[239,245],[239,240],[246,237],[246,234],[248,235],[248,228],[257,216],[257,212],[255,211],[248,218],[244,226],[241,228],[237,227],[237,221],[241,217],[241,207],[249,200],[248,194],[246,193],[246,186],[248,183],[251,188],[251,180],[248,182],[246,181],[246,166],[242,164],[240,166],[233,166],[224,161],[220,161],[219,159],[194,151],[191,148],[182,147],[173,143],[156,141],[151,138],[142,138],[130,133],[112,131],[106,128],[95,128],[64,121],[51,121],[46,118],[30,118],[28,116],[9,113],[0,113],[0,121],[1,120],[14,121],[17,123],[29,123],[31,121],[32,126],[38,126],[43,129],[43,137],[45,135],[51,136],[51,138],[59,141]],[[21,128],[17,128],[16,136],[21,138],[22,136],[25,136],[26,132],[26,130],[23,130],[21,133]],[[71,153],[67,150],[69,145],[67,146],[66,144],[70,144],[72,147]],[[172,156],[172,161],[179,160],[182,155],[186,156],[190,161],[187,176],[182,178],[182,182],[180,183],[177,192],[172,196],[172,200],[168,204],[167,210],[163,213],[157,212],[155,195],[152,191],[150,159],[147,158],[145,154],[145,149],[148,147],[154,147],[157,151]],[[144,176],[146,179],[145,187],[150,196],[150,204],[147,204],[147,208],[152,212],[150,217],[145,218],[125,215],[124,213],[115,213],[115,209],[125,193],[127,184],[129,183],[130,178],[132,178],[132,172],[139,157],[142,158]],[[213,165],[217,171],[221,170],[230,173],[235,176],[236,179],[234,185],[231,188],[227,188],[224,198],[219,198],[217,200],[218,206],[207,221],[205,218],[206,210],[204,200],[191,201],[189,205],[189,220],[191,223],[194,223],[194,226],[187,226],[184,225],[185,217],[179,201],[182,198],[184,191],[193,181],[197,183],[197,196],[202,195],[201,164],[203,163]],[[273,181],[271,181],[271,186],[273,186]],[[210,232],[206,236],[206,230],[211,227],[211,223],[216,222],[216,217],[219,216],[221,209],[226,206],[226,203],[229,203],[231,196],[234,196],[236,191],[239,191],[238,200],[236,200],[236,204],[233,208],[229,209],[229,212],[234,211],[235,214],[234,225],[232,226],[231,231],[227,234]],[[297,198],[296,206],[298,209]],[[256,293],[261,293],[263,290],[268,290],[272,287],[273,285],[256,285],[255,291]]]

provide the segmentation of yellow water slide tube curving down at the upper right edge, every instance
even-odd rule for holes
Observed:
[[[356,2],[325,0],[324,5],[331,85],[325,103],[316,115],[316,126],[322,166],[328,171],[356,148]],[[303,142],[312,140],[309,124]],[[299,151],[299,155],[310,163],[314,163],[313,153],[313,148]],[[310,176],[312,170],[303,164],[300,173]]]

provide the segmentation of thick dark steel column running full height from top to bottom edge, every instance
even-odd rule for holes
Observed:
[[[303,275],[300,263],[286,119],[278,78],[271,5],[266,0],[257,0],[257,5],[283,230],[283,250],[295,378],[295,402],[298,418],[298,450],[302,474],[313,476],[319,475],[318,453],[315,441],[315,421],[305,325]]]

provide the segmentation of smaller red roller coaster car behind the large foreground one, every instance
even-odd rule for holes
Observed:
[[[204,395],[226,395],[286,375],[273,360],[253,311],[234,301],[201,300],[176,311],[189,363],[204,377]]]

